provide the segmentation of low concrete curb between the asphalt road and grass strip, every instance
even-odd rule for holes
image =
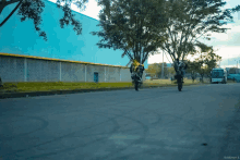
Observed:
[[[201,85],[201,84],[191,84],[191,85]],[[191,86],[191,85],[187,85],[187,86]],[[176,87],[176,86],[171,86],[171,85],[166,85],[166,86],[142,86],[141,88],[160,88],[160,87]],[[52,90],[52,91],[4,93],[4,94],[0,94],[0,99],[21,98],[21,97],[35,97],[35,96],[49,96],[49,95],[79,94],[79,93],[91,93],[91,91],[125,90],[125,89],[134,89],[134,87],[75,89],[75,90]]]

